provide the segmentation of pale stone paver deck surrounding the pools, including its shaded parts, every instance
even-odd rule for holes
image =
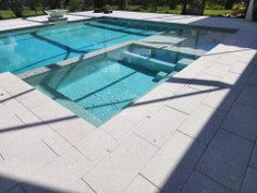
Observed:
[[[70,21],[101,14],[69,15]],[[257,24],[114,12],[238,32],[94,129],[11,73],[0,74],[2,193],[256,193]],[[0,22],[0,31],[46,16]]]

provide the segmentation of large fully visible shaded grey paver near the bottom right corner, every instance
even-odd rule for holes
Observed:
[[[238,192],[252,149],[253,143],[219,130],[197,169],[230,190]]]

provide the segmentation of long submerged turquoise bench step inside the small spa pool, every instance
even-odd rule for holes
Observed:
[[[154,71],[173,72],[175,70],[174,63],[164,62],[150,57],[144,57],[130,51],[123,52],[123,61]]]

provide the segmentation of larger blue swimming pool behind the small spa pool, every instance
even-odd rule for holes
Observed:
[[[118,19],[93,19],[0,34],[0,73],[20,74],[126,40],[204,55],[232,32]]]

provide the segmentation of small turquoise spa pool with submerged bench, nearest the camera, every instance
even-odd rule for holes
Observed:
[[[24,81],[99,126],[197,58],[131,45]]]

